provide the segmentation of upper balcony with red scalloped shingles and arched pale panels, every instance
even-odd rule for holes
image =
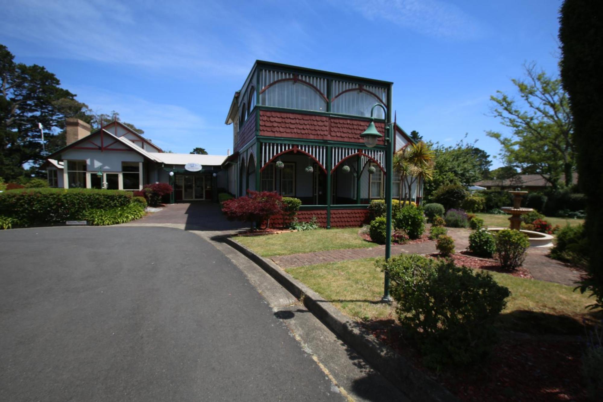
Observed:
[[[258,60],[227,116],[233,148],[236,152],[256,137],[361,143],[371,107],[379,103],[391,110],[392,85]],[[377,107],[373,116],[383,132],[383,110]]]

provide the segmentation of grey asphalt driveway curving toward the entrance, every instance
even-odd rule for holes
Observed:
[[[171,228],[0,231],[0,400],[343,400],[242,272]]]

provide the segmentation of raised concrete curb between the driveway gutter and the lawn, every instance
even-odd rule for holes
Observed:
[[[333,333],[351,346],[374,369],[396,386],[411,400],[458,401],[454,395],[425,373],[415,369],[411,363],[389,346],[382,345],[364,328],[360,327],[337,310],[330,302],[314,290],[297,281],[273,261],[260,257],[232,238],[224,237],[229,246],[264,269],[296,298],[303,300],[312,314],[324,322]]]

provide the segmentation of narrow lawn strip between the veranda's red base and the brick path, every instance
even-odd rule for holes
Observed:
[[[358,235],[360,228],[317,229],[262,236],[237,236],[234,240],[262,257],[309,253],[313,251],[375,247]]]

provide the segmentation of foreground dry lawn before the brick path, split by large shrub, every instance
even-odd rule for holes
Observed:
[[[286,272],[358,320],[395,317],[393,306],[380,303],[384,276],[374,258],[289,268]],[[592,301],[573,287],[492,272],[511,290],[499,327],[531,333],[583,333],[584,307]]]

